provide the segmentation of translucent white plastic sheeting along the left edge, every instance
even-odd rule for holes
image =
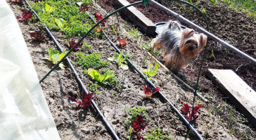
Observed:
[[[60,139],[20,27],[0,0],[0,140]]]

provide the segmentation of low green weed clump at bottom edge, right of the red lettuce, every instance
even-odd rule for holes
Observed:
[[[172,136],[163,135],[162,129],[158,129],[157,127],[150,130],[150,133],[144,140],[172,140]]]

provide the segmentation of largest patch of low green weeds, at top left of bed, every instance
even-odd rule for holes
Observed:
[[[45,4],[51,6],[53,10],[45,11]],[[49,30],[63,31],[68,36],[80,36],[84,35],[93,26],[93,23],[89,20],[89,15],[86,12],[79,12],[79,7],[76,6],[74,0],[45,0],[35,3],[30,2],[30,5]],[[55,19],[60,18],[64,19],[63,28],[58,26],[55,21]],[[43,27],[44,25],[41,24],[41,26]],[[96,37],[101,36],[96,30],[92,30],[90,35],[96,35]]]

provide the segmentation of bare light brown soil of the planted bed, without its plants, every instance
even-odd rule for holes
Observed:
[[[13,3],[9,4],[11,5],[11,8],[16,17],[20,16],[21,10],[26,8],[24,2],[20,2],[18,5]],[[21,9],[18,7],[20,7]],[[104,7],[102,8],[104,9]],[[95,4],[91,5],[89,13],[92,13],[92,10],[94,12],[102,14],[104,13],[103,10],[97,7]],[[105,14],[103,15],[105,16]],[[109,37],[116,43],[116,36],[111,28],[114,19],[115,16],[108,19],[105,30]],[[137,68],[139,68],[140,70],[146,69],[150,63],[149,61],[147,61],[145,65],[142,65],[144,56],[147,55],[146,51],[144,51],[140,47],[137,47],[137,40],[127,34],[126,31],[128,31],[128,29],[122,29],[123,23],[125,23],[126,21],[123,19],[119,20],[120,23],[116,23],[115,30],[117,33],[121,33],[121,35],[127,38],[128,42],[128,45],[126,47],[119,47],[119,49],[123,49],[124,54],[130,54],[130,58],[133,58],[132,61],[137,66]],[[42,60],[42,58],[48,57],[48,47],[54,48],[54,44],[52,40],[48,38],[48,36],[44,41],[41,42],[32,41],[28,33],[28,31],[31,30],[31,25],[27,23],[19,23],[19,25],[21,30],[23,31],[23,36],[30,50],[30,55],[34,62],[38,78],[41,79],[53,66],[50,62]],[[38,29],[44,30],[41,29],[41,27],[39,27],[36,23],[33,30]],[[62,48],[67,49],[64,44],[67,43],[66,39],[70,38],[62,38],[61,32],[52,33],[59,41],[59,44],[62,46]],[[73,37],[73,39],[76,40],[78,40],[79,38],[80,37]],[[99,39],[87,37],[84,42],[93,47],[91,51],[81,50],[84,54],[91,54],[93,52],[96,52],[98,54],[101,54],[102,60],[106,60],[108,57],[112,57],[116,53],[114,48],[110,46],[105,38]],[[70,55],[69,58],[71,61],[75,61],[75,56]],[[61,70],[59,68],[54,70],[54,72],[52,72],[52,74],[41,83],[45,98],[48,101],[49,108],[52,112],[56,127],[59,131],[61,138],[64,140],[111,139],[111,136],[107,131],[101,134],[99,133],[101,132],[101,130],[104,131],[104,129],[106,128],[103,126],[100,118],[98,118],[97,113],[92,106],[90,106],[88,110],[82,110],[81,123],[80,125],[78,125],[80,109],[76,108],[75,105],[69,104],[67,102],[67,99],[69,96],[75,96],[76,99],[79,99],[81,95],[81,89],[77,85],[75,78],[72,76],[71,70],[68,68],[68,65],[66,66],[67,68],[65,68],[65,70]],[[74,65],[74,67],[76,68],[76,71],[80,75],[87,89],[89,89],[87,84],[94,83],[95,81],[90,77],[83,75],[83,68],[77,65]],[[145,130],[141,133],[143,136],[146,136],[152,128],[158,127],[159,125],[160,128],[164,130],[164,134],[172,135],[174,139],[184,139],[187,137],[189,131],[179,120],[177,115],[170,109],[168,104],[160,100],[157,95],[154,95],[152,97],[152,100],[148,100],[145,98],[143,88],[141,87],[142,84],[145,84],[145,81],[130,66],[129,70],[124,71],[116,65],[116,62],[111,62],[110,65],[100,69],[99,72],[101,73],[103,69],[109,69],[115,72],[116,77],[119,80],[118,86],[122,86],[122,81],[123,79],[125,79],[124,89],[119,97],[117,104],[116,100],[118,98],[118,95],[120,94],[119,87],[105,88],[101,86],[98,89],[99,94],[94,95],[96,97],[96,104],[98,105],[108,122],[111,124],[113,129],[116,131],[120,139],[127,139],[130,134],[129,128],[126,128],[124,126],[123,119],[123,117],[127,116],[127,113],[124,113],[124,109],[128,110],[128,108],[130,107],[146,107],[146,113],[148,114],[149,118],[151,118],[151,121],[149,122],[151,125],[145,128]],[[181,86],[174,79],[172,79],[170,75],[166,74],[162,68],[158,69],[158,73],[154,76],[154,79],[157,79],[158,81],[158,83],[156,83],[156,86],[161,88],[162,93],[164,93],[165,96],[178,109],[182,107],[183,103],[188,103],[191,106],[194,103],[200,103],[204,105],[204,107],[201,108],[198,112],[200,114],[198,119],[191,124],[202,136],[206,133],[206,131],[208,131],[208,134],[205,138],[212,140],[238,139],[240,134],[245,133],[253,137],[255,136],[255,129],[252,128],[251,124],[247,122],[241,124],[240,126],[244,130],[236,128],[236,133],[234,135],[229,135],[230,128],[233,126],[236,127],[237,125],[236,122],[233,121],[230,124],[230,128],[226,129],[226,118],[220,121],[217,131],[215,131],[220,116],[226,113],[226,110],[229,110],[230,105],[228,105],[227,107],[223,107],[225,109],[219,111],[218,113],[208,114],[208,109],[209,107],[211,107],[212,109],[216,106],[216,104],[222,103],[222,96],[217,96],[215,98],[214,95],[207,93],[209,94],[209,96],[212,96],[214,98],[210,101],[209,104],[202,103],[198,98],[193,99],[193,94],[191,92],[187,92],[181,89]],[[235,115],[239,115],[239,113],[236,113]],[[159,124],[158,120],[160,120]],[[79,129],[77,130],[77,128]],[[249,129],[251,129],[251,132],[249,131]],[[192,133],[190,133],[188,139],[196,138]]]

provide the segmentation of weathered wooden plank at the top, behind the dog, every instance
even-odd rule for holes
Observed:
[[[123,6],[129,5],[130,3],[126,0],[114,0],[117,8],[121,8]],[[139,10],[137,10],[134,6],[130,6],[121,11],[125,16],[127,16],[131,21],[137,24],[137,26],[147,34],[155,34],[156,26],[155,24],[149,20],[146,16],[144,16]]]

